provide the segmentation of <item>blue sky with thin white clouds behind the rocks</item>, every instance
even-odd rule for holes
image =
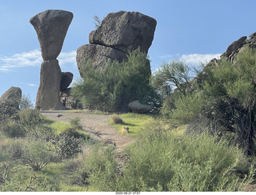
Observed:
[[[155,18],[149,50],[154,71],[174,58],[196,65],[222,54],[231,42],[256,31],[255,7],[254,0],[0,0],[0,96],[18,86],[35,100],[42,57],[29,20],[44,10],[74,14],[58,60],[62,71],[77,79],[76,50],[89,43],[94,15],[126,10]]]

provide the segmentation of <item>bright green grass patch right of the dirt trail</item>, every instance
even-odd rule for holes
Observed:
[[[123,124],[115,124],[113,120],[109,120],[109,124],[113,125],[118,133],[122,133],[122,128],[128,127],[129,133],[126,134],[130,137],[137,137],[138,133],[141,131],[142,127],[150,121],[154,121],[156,116],[152,114],[141,114],[141,113],[123,113],[119,114],[122,118]]]

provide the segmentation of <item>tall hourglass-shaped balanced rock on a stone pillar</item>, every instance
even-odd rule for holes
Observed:
[[[73,14],[65,10],[46,10],[30,19],[30,23],[38,34],[44,60],[40,70],[36,109],[66,109],[60,101],[59,91],[61,90],[61,83],[62,89],[68,86],[67,82],[64,84],[62,82],[62,71],[56,58],[62,50],[72,18]]]

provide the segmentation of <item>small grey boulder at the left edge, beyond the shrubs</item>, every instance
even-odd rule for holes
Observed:
[[[12,86],[0,97],[0,104],[14,107],[14,109],[19,109],[21,100],[22,90],[19,87]]]

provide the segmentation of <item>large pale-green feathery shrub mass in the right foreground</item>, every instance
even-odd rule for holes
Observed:
[[[90,185],[120,192],[239,191],[254,177],[238,147],[207,134],[174,136],[158,123],[148,125],[126,155],[120,169],[114,153],[94,150],[84,165]]]

